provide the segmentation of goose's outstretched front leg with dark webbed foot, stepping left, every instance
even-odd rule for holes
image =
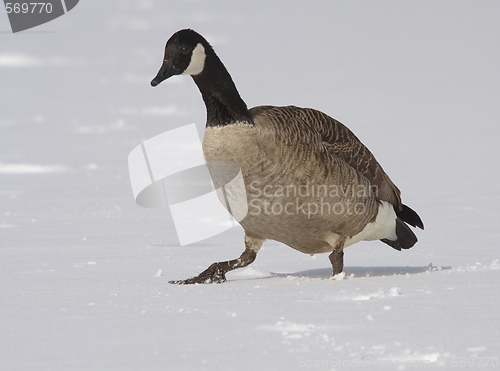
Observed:
[[[198,276],[186,280],[169,281],[177,285],[190,285],[196,283],[223,283],[226,282],[226,273],[233,269],[243,268],[251,264],[257,257],[257,252],[264,240],[251,238],[245,235],[245,251],[238,259],[213,263]]]

